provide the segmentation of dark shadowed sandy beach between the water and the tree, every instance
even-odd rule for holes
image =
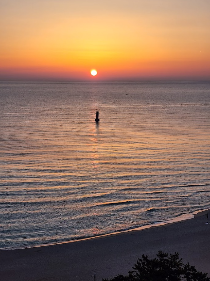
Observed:
[[[178,252],[184,262],[210,273],[207,211],[193,219],[83,241],[0,251],[3,281],[96,281],[127,274],[142,254]],[[210,219],[208,220],[210,222]],[[210,275],[209,275],[210,276]]]

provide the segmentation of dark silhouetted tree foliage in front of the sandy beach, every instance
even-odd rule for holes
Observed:
[[[117,275],[103,281],[210,281],[207,273],[197,271],[189,263],[184,264],[179,254],[166,254],[159,251],[157,258],[148,259],[142,255],[138,258],[127,276]]]

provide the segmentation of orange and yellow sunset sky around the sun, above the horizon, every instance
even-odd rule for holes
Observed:
[[[209,0],[0,0],[0,81],[210,80],[209,15]]]

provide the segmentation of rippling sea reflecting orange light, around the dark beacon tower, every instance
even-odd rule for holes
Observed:
[[[210,83],[1,82],[0,159],[0,249],[210,208]]]

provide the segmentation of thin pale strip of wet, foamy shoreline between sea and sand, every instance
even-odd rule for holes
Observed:
[[[74,243],[74,242],[78,242],[78,241],[86,241],[86,240],[92,240],[92,239],[98,239],[101,237],[109,237],[112,235],[117,235],[117,234],[121,234],[121,233],[127,233],[127,232],[131,232],[131,231],[140,231],[140,230],[144,230],[144,229],[151,229],[154,227],[160,227],[160,226],[164,226],[164,225],[170,225],[170,224],[174,224],[180,221],[184,221],[184,220],[191,220],[196,216],[202,216],[202,214],[204,212],[210,212],[210,208],[209,209],[201,209],[201,210],[197,210],[194,212],[189,212],[189,213],[185,213],[185,214],[181,214],[180,216],[177,216],[173,219],[169,219],[166,221],[162,221],[162,222],[157,222],[157,223],[153,223],[153,224],[147,224],[147,225],[143,225],[143,226],[139,226],[137,228],[131,228],[131,229],[125,229],[125,230],[119,230],[119,231],[115,231],[112,233],[105,233],[105,234],[100,234],[97,236],[91,236],[91,237],[84,237],[84,238],[78,238],[78,239],[72,239],[72,240],[67,240],[67,241],[60,241],[60,242],[56,242],[56,243],[49,243],[49,244],[40,244],[40,245],[31,245],[28,247],[23,247],[23,248],[11,248],[11,249],[0,249],[0,251],[9,251],[9,250],[21,250],[21,249],[32,249],[32,248],[39,248],[39,247],[47,247],[47,246],[52,246],[52,245],[60,245],[60,244],[66,244],[66,243]]]

